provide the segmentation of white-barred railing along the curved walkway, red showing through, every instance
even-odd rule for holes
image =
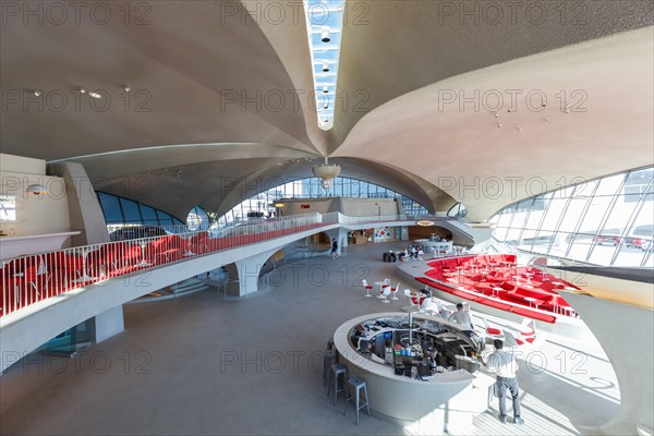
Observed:
[[[167,235],[90,244],[4,259],[0,268],[0,317],[74,289],[195,256],[303,231],[319,231],[336,225],[412,220],[414,217],[401,215],[350,217],[340,213],[314,213],[232,227],[229,232],[220,234],[210,230],[186,229],[185,232]]]

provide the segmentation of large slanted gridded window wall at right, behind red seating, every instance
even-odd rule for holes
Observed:
[[[603,266],[654,266],[654,168],[548,192],[505,207],[493,238],[517,250]]]

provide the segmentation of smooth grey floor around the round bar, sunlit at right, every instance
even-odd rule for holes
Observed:
[[[272,272],[268,289],[241,300],[216,290],[125,305],[124,332],[73,359],[33,355],[0,377],[0,432],[419,434],[367,415],[355,426],[322,383],[322,353],[340,324],[403,305],[362,298],[360,287],[363,278],[397,283],[395,266],[378,258],[398,245],[351,246],[338,259],[289,264]],[[572,354],[580,347],[582,358]],[[540,352],[546,363],[520,373],[526,425],[499,424],[494,401],[468,434],[578,434],[574,425],[616,413],[615,375],[597,344],[550,337]]]

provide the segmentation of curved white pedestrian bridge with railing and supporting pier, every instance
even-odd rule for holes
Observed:
[[[464,225],[445,217],[428,219],[473,242]],[[350,230],[411,226],[415,221],[416,217],[399,215],[307,214],[240,226],[219,238],[195,231],[4,261],[0,272],[1,371],[16,355],[29,353],[62,331],[189,277],[234,263],[239,294],[246,295],[257,291],[266,261],[294,241],[318,232],[347,241],[344,234]]]

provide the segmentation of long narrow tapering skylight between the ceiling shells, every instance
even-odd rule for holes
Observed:
[[[344,0],[304,0],[318,126],[334,128]]]

